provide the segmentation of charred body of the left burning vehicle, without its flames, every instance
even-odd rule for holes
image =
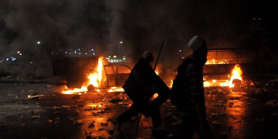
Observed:
[[[64,79],[67,88],[81,88],[88,74],[96,72],[99,57],[64,57],[53,60],[53,75]],[[102,58],[102,79],[99,88],[122,86],[131,72],[124,63],[110,63]]]

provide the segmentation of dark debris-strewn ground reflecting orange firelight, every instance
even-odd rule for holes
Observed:
[[[0,138],[154,138],[151,119],[144,116],[138,132],[134,117],[118,136],[111,119],[132,103],[124,92],[65,95],[64,85],[43,80],[0,82]],[[207,120],[215,138],[278,138],[277,90],[275,84],[252,81],[241,88],[205,88]],[[179,114],[169,100],[161,115],[167,138],[179,138]]]

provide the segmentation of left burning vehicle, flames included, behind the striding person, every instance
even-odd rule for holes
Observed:
[[[122,86],[131,72],[125,64],[109,63],[103,57],[66,57],[53,61],[53,74],[66,80],[68,92],[97,91]]]

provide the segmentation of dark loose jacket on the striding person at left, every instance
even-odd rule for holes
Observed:
[[[134,103],[142,106],[142,111],[150,106],[149,99],[153,94],[159,94],[154,105],[160,106],[168,98],[168,95],[165,94],[170,92],[168,86],[155,74],[151,65],[143,58],[140,58],[132,68],[123,89]],[[146,116],[146,113],[143,114]]]

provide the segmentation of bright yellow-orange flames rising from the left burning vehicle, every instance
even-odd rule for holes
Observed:
[[[89,75],[87,76],[88,78],[88,82],[83,83],[82,87],[79,88],[75,88],[73,90],[68,90],[67,86],[65,86],[65,91],[63,91],[63,94],[79,94],[81,95],[81,92],[88,92],[88,90],[90,90],[90,88],[92,87],[94,89],[94,91],[96,92],[100,92],[100,89],[98,89],[101,86],[101,79],[102,79],[102,71],[103,71],[103,57],[100,57],[98,59],[98,65],[97,65],[97,71],[96,72],[91,72],[89,73]],[[91,90],[90,90],[91,91]],[[122,88],[117,88],[117,87],[111,87],[111,89],[108,92],[123,92],[124,89]]]

